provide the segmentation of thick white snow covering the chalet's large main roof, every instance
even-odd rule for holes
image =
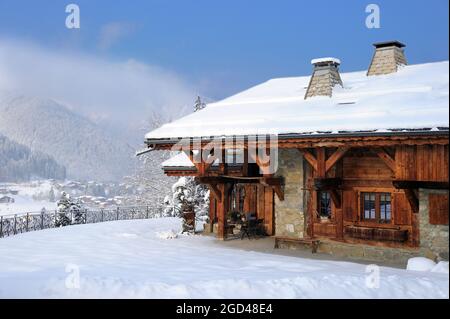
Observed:
[[[448,128],[449,62],[342,73],[333,97],[304,99],[310,76],[269,80],[149,132],[146,139]]]

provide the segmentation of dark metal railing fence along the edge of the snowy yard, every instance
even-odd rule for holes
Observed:
[[[84,209],[62,213],[42,211],[0,216],[0,238],[30,231],[114,220],[149,219],[163,216],[164,206],[133,206],[108,209]],[[62,222],[64,220],[64,222]]]

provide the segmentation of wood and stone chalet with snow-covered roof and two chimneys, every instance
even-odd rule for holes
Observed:
[[[368,70],[312,60],[311,76],[269,80],[149,132],[147,150],[182,151],[164,171],[208,185],[219,239],[239,210],[285,246],[448,260],[449,63],[408,65],[398,41],[374,47]]]

